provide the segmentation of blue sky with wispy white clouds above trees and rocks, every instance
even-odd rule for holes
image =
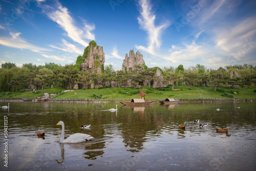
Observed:
[[[75,63],[91,40],[120,70],[140,51],[148,67],[256,66],[256,1],[0,0],[0,64]]]

